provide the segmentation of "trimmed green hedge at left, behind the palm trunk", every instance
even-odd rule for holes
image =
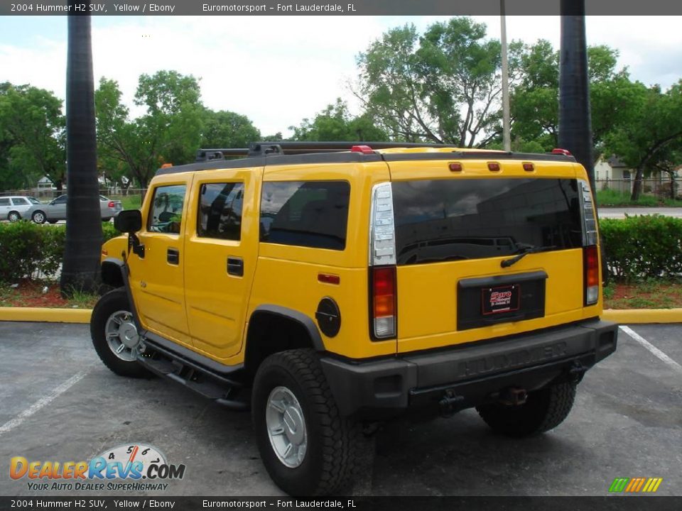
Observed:
[[[112,224],[102,224],[103,241],[119,232]],[[0,282],[36,277],[56,278],[62,259],[66,226],[41,226],[30,221],[0,223]]]

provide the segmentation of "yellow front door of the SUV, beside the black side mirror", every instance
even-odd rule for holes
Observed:
[[[172,178],[173,176],[168,176]],[[130,286],[144,328],[190,346],[183,267],[183,229],[191,181],[163,180],[148,190],[144,226],[139,232],[144,256],[130,253]]]

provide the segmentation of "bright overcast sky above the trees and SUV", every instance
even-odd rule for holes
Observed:
[[[499,16],[475,16],[499,38]],[[177,70],[200,78],[210,109],[244,114],[263,135],[351,99],[355,59],[388,28],[419,31],[445,17],[94,16],[94,77],[117,79],[132,106],[141,73]],[[65,16],[0,16],[0,82],[30,83],[65,97]],[[682,77],[681,16],[592,16],[589,45],[619,50],[633,79],[669,87]],[[509,16],[507,39],[559,45],[558,16]],[[139,109],[131,109],[139,114]]]

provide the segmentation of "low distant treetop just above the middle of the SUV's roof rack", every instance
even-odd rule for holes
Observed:
[[[289,129],[296,141],[384,141],[388,136],[369,114],[352,116],[340,98],[312,121],[303,119],[299,126]]]

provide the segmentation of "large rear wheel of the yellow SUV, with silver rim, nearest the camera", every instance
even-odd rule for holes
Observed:
[[[290,495],[328,495],[352,480],[359,424],[341,417],[315,351],[295,349],[261,364],[251,395],[261,458]]]

